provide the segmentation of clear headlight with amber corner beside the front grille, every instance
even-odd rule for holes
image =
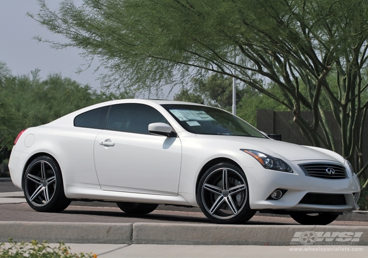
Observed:
[[[245,153],[248,153],[253,158],[258,160],[258,162],[261,163],[263,168],[267,170],[276,170],[292,173],[292,169],[289,167],[289,165],[281,159],[274,158],[270,155],[264,154],[257,150],[252,149],[240,149],[240,150],[244,151]]]

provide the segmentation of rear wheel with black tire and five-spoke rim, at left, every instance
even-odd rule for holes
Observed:
[[[40,212],[63,211],[72,201],[65,197],[59,165],[48,156],[31,161],[23,175],[23,189],[29,206]]]

